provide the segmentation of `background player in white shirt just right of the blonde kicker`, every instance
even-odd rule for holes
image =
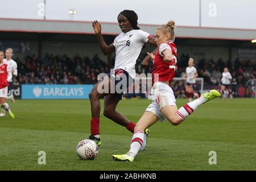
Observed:
[[[185,84],[185,92],[188,101],[192,101],[192,97],[199,98],[199,93],[196,92],[196,77],[198,77],[198,73],[194,65],[194,59],[192,57],[188,60],[188,67],[186,68],[186,74],[183,78],[187,78]]]

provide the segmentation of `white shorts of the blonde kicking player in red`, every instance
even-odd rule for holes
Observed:
[[[174,91],[166,82],[158,81],[152,86],[151,96],[152,103],[147,107],[146,111],[154,113],[161,122],[164,122],[166,118],[160,110],[167,105],[176,106]]]

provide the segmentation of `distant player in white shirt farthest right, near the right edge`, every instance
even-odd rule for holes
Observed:
[[[222,73],[222,78],[221,78],[221,93],[223,98],[225,97],[225,92],[226,90],[228,91],[228,96],[229,98],[233,98],[232,90],[231,90],[231,80],[232,76],[229,72],[228,68],[224,68],[224,72]]]

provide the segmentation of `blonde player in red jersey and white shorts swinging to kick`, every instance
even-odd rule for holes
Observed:
[[[210,92],[203,93],[200,98],[185,104],[177,110],[174,92],[170,86],[177,69],[177,49],[174,44],[174,28],[175,22],[170,21],[156,29],[155,42],[159,49],[156,55],[148,53],[153,60],[153,86],[151,93],[155,98],[147,107],[141,119],[136,123],[129,152],[123,155],[112,155],[114,160],[132,162],[143,144],[144,130],[154,125],[158,120],[164,122],[167,118],[172,125],[179,125],[198,106],[221,96],[217,90],[210,90]]]

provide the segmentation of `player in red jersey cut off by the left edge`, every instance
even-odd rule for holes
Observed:
[[[4,54],[5,53],[3,51],[0,51],[0,103],[1,107],[9,114],[9,117],[14,119],[15,116],[11,112],[9,105],[6,103],[8,86],[13,75],[9,65],[3,63]]]

